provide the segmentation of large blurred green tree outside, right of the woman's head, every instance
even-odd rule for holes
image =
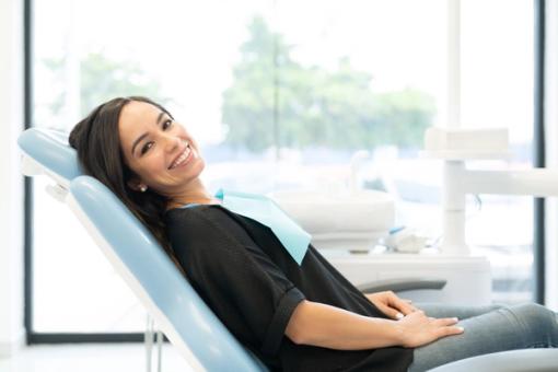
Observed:
[[[260,16],[248,32],[233,83],[223,92],[224,143],[253,152],[274,146],[356,150],[421,144],[434,115],[428,94],[414,89],[374,93],[372,75],[353,69],[348,58],[333,72],[304,67]]]

